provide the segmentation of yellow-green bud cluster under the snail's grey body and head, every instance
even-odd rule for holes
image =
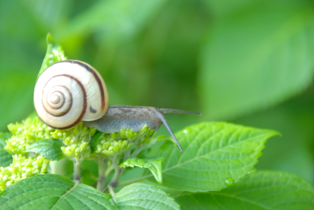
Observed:
[[[98,139],[95,153],[109,156],[121,154],[127,151],[133,144],[139,146],[148,144],[153,133],[154,130],[145,125],[138,132],[121,129],[120,132],[104,134]]]

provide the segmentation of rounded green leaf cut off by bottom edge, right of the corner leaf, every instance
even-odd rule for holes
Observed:
[[[116,193],[118,208],[121,210],[147,209],[147,210],[174,210],[179,205],[167,193],[157,186],[145,183],[134,183],[124,187]]]

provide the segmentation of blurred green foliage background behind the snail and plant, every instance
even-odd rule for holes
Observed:
[[[0,0],[0,131],[34,109],[47,32],[99,70],[110,104],[203,112],[168,114],[174,131],[278,130],[257,169],[314,183],[312,0]]]

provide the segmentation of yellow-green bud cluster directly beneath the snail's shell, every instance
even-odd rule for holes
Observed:
[[[70,159],[84,159],[90,153],[89,140],[95,132],[95,128],[83,127],[81,122],[78,126],[68,130],[57,129],[51,132],[51,136],[63,141],[66,146],[61,147],[61,150]]]

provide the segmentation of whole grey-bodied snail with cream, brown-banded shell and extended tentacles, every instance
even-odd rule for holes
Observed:
[[[183,149],[163,114],[201,115],[147,106],[108,105],[108,92],[100,73],[78,60],[56,62],[39,76],[34,89],[34,105],[39,118],[58,129],[74,127],[81,121],[84,126],[103,133],[119,132],[122,128],[137,132],[144,125],[157,131],[164,124],[181,152]]]

